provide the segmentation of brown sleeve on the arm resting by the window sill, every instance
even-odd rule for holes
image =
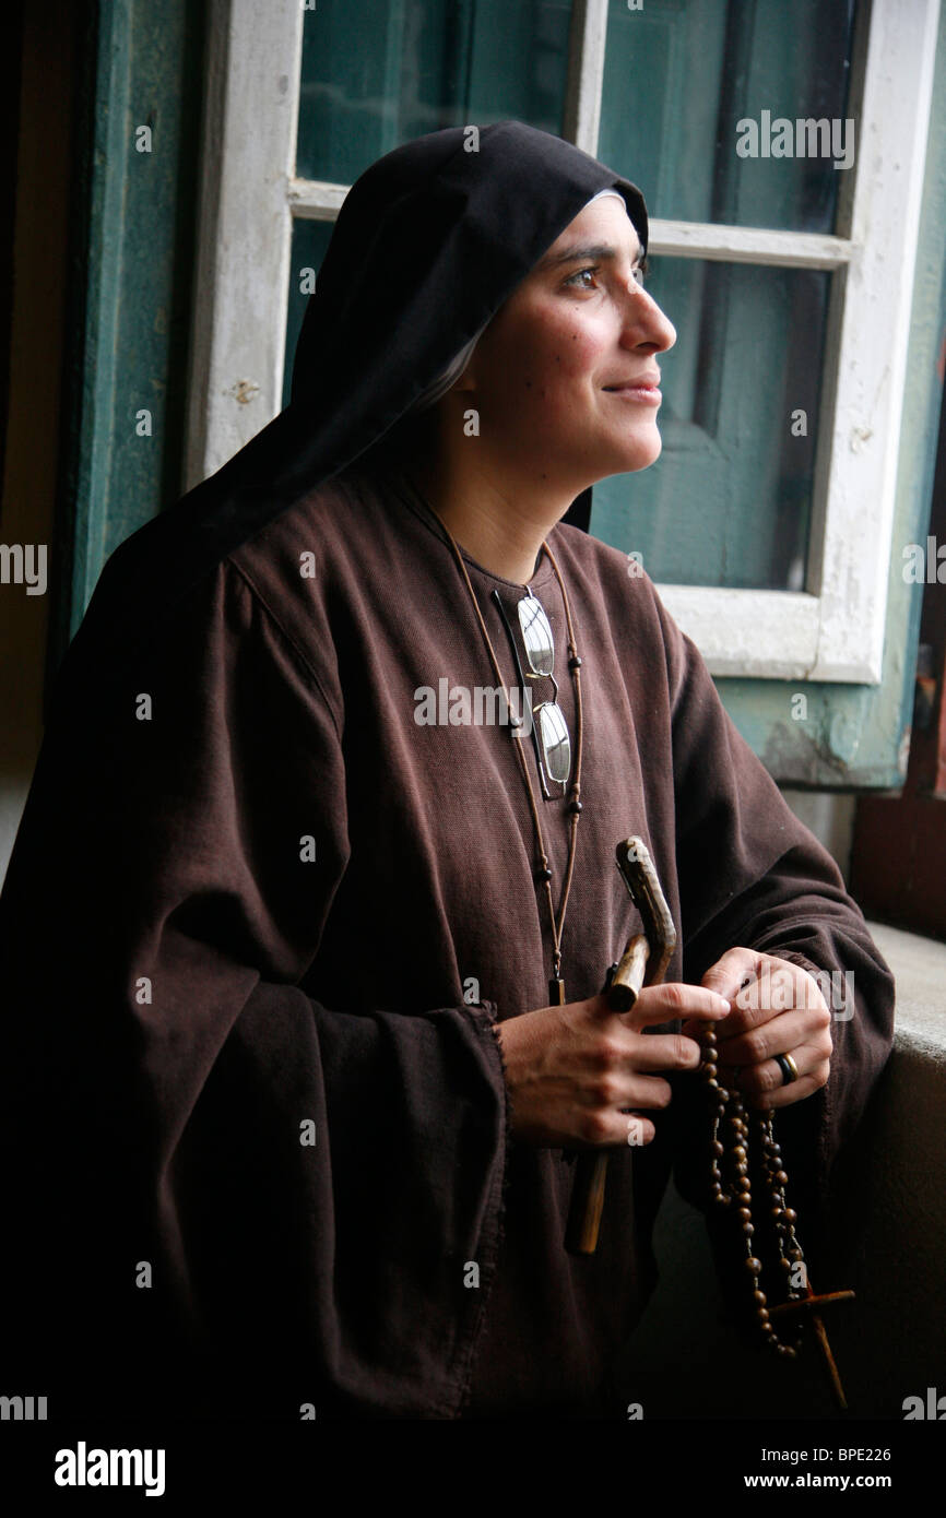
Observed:
[[[689,638],[659,607],[673,694],[673,773],[683,979],[736,946],[834,976],[828,1085],[776,1117],[799,1211],[821,1230],[834,1158],[856,1128],[893,1041],[893,976],[831,855],[794,817],[729,718]],[[828,981],[823,981],[828,988]],[[706,1207],[705,1105],[674,1093],[674,1176]],[[679,1098],[679,1099],[677,1099]]]

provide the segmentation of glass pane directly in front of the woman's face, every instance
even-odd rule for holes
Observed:
[[[677,328],[657,355],[664,451],[595,484],[591,521],[651,580],[805,589],[832,278],[656,261],[647,285]]]

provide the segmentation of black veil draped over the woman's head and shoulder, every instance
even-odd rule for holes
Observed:
[[[308,299],[290,404],[108,560],[67,666],[159,635],[175,603],[320,481],[378,442],[604,188],[647,247],[641,191],[522,121],[415,138],[352,185]],[[591,490],[566,521],[588,528]],[[108,644],[108,651],[106,651]]]

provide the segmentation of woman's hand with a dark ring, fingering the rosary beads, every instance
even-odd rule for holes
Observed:
[[[738,1090],[756,1110],[770,1110],[800,1102],[828,1082],[831,1011],[808,970],[758,949],[729,949],[702,985],[732,1002],[732,1013],[717,1023],[720,1085]],[[682,1031],[698,1038],[703,1029],[688,1023]],[[791,1055],[797,1081],[785,1084],[779,1053]]]

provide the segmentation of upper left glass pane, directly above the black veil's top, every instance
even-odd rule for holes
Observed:
[[[305,12],[296,173],[352,184],[399,143],[515,117],[560,134],[569,0],[358,0]]]

